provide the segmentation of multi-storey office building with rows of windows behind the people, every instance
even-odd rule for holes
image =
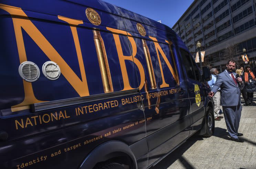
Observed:
[[[193,57],[196,42],[205,51],[205,63],[223,71],[226,62],[242,60],[243,48],[249,63],[256,61],[256,0],[194,0],[173,26]]]

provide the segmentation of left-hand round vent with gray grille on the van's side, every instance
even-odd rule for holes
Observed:
[[[40,70],[35,63],[26,61],[20,64],[19,74],[25,81],[33,82],[39,78]]]

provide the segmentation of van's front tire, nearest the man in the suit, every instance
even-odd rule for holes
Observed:
[[[213,114],[213,109],[212,107],[208,106],[206,108],[206,114],[205,114],[205,134],[203,137],[211,137],[214,132],[214,126],[215,126],[215,121],[214,121],[214,114]]]

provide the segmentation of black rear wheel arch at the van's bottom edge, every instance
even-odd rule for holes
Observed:
[[[93,167],[103,161],[127,155],[132,161],[132,167],[137,169],[135,155],[127,144],[121,141],[108,141],[97,146],[83,160],[79,169],[93,169]]]

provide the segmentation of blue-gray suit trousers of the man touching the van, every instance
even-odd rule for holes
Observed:
[[[222,108],[224,111],[224,117],[228,134],[232,139],[237,139],[238,127],[242,112],[242,105],[238,103],[237,106],[222,106]]]

